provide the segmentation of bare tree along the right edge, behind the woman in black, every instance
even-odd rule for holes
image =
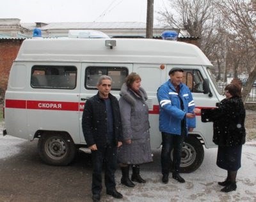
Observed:
[[[217,6],[226,19],[227,31],[236,36],[234,42],[237,43],[237,55],[240,52],[239,65],[248,71],[248,82],[242,92],[245,102],[256,79],[256,11],[249,0],[218,1]]]

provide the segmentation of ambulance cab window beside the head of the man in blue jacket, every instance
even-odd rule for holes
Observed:
[[[191,92],[204,92],[204,78],[198,69],[184,69],[182,82],[188,85]]]

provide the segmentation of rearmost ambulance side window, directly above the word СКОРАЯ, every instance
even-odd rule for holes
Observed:
[[[31,87],[38,89],[75,89],[75,66],[33,66]]]

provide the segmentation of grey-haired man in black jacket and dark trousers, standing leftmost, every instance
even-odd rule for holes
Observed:
[[[92,199],[100,201],[102,190],[102,163],[106,160],[106,193],[114,198],[122,198],[116,191],[115,171],[117,168],[117,148],[122,145],[122,124],[118,101],[109,92],[112,79],[100,76],[97,83],[99,92],[88,99],[84,105],[82,127],[84,139],[93,159]]]

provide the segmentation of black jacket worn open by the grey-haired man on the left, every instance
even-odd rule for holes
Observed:
[[[118,101],[115,96],[109,94],[113,112],[114,140],[117,145],[122,141],[122,123]],[[84,105],[82,128],[84,140],[88,147],[96,144],[97,147],[104,147],[108,141],[107,134],[107,112],[104,99],[97,95],[90,97]]]

